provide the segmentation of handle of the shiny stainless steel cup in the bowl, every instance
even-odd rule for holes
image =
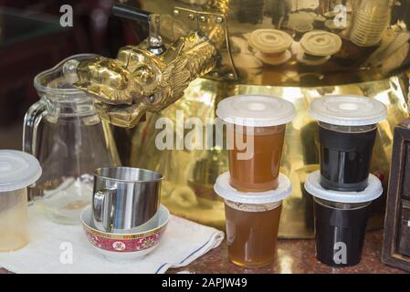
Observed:
[[[114,229],[115,189],[105,189],[94,193],[92,199],[92,214],[97,229],[112,232]]]

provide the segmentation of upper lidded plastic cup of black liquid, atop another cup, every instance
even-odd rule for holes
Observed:
[[[359,96],[327,96],[313,100],[308,112],[319,123],[321,186],[333,191],[363,191],[377,123],[387,115],[384,104]]]

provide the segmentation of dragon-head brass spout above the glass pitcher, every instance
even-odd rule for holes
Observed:
[[[184,95],[189,83],[216,66],[216,47],[192,33],[161,56],[139,46],[122,47],[116,59],[96,57],[79,63],[74,84],[95,97],[102,119],[132,128],[147,111],[163,110]]]

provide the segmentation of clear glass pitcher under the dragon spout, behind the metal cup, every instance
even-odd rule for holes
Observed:
[[[68,57],[38,74],[40,100],[25,117],[23,149],[43,168],[29,197],[60,224],[79,223],[79,212],[91,202],[94,170],[120,164],[110,126],[101,122],[89,95],[72,86],[79,61],[90,57]]]

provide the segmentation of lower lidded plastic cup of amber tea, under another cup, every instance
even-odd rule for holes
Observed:
[[[228,259],[237,266],[268,266],[275,260],[282,200],[291,193],[289,178],[279,174],[275,191],[237,192],[229,172],[216,179],[215,192],[225,201]]]

